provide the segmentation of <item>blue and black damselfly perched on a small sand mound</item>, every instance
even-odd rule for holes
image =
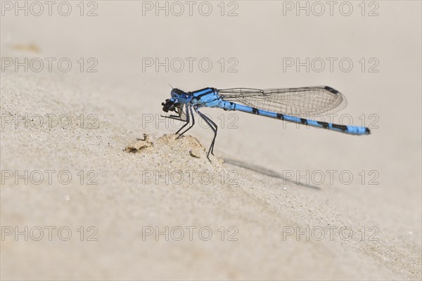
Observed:
[[[368,128],[362,126],[346,126],[309,119],[309,116],[338,111],[347,105],[345,97],[339,91],[329,86],[265,90],[249,88],[204,88],[193,92],[172,89],[171,96],[170,99],[165,100],[165,103],[161,105],[163,106],[162,110],[165,112],[174,111],[177,113],[177,115],[165,117],[185,122],[176,133],[179,133],[191,123],[192,119],[191,126],[181,132],[179,137],[195,124],[193,110],[214,131],[214,138],[212,138],[212,143],[207,153],[208,159],[210,159],[210,153],[214,155],[217,124],[212,122],[210,117],[200,112],[201,107],[238,110],[351,135],[367,135],[370,133]]]

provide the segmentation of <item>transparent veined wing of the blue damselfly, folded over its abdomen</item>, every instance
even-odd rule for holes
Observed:
[[[298,117],[336,112],[347,105],[346,98],[329,86],[264,90],[233,88],[217,91],[226,101]]]

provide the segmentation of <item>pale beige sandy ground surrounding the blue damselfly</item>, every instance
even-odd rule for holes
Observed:
[[[1,70],[2,280],[421,280],[421,2],[377,1],[373,17],[360,2],[349,17],[283,15],[282,1],[238,1],[234,17],[213,1],[207,17],[98,1],[87,17],[71,3],[68,17],[1,17],[2,67],[72,62]],[[213,66],[143,71],[145,58]],[[354,67],[283,71],[283,58]],[[167,83],[327,84],[372,133],[203,110],[219,124],[209,162],[205,124],[175,139],[159,117]]]

